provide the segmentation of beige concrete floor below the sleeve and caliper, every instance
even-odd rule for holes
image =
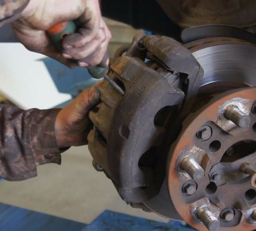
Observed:
[[[22,182],[0,182],[0,202],[58,217],[90,223],[105,209],[167,222],[154,213],[133,209],[118,196],[112,182],[92,166],[87,146],[62,154],[62,164],[38,167],[38,176]]]

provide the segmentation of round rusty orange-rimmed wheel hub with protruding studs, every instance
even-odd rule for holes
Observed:
[[[169,152],[170,198],[182,218],[196,229],[203,230],[201,222],[208,227],[210,221],[215,227],[212,230],[217,230],[218,222],[223,230],[245,230],[254,224],[255,100],[256,88],[232,90],[211,99],[186,118],[183,131]],[[227,110],[237,108],[243,111],[240,116],[247,118],[243,128],[227,114]],[[198,131],[206,131],[206,127],[210,131],[208,139],[200,139]],[[232,149],[236,151],[232,153]],[[198,215],[202,208],[211,219],[205,221],[206,215]]]

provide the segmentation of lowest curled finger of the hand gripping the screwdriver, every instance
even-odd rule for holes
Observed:
[[[78,61],[78,66],[107,66],[108,58],[108,51],[107,51],[108,41],[106,40],[102,43],[91,55],[87,56],[86,58],[80,59]]]

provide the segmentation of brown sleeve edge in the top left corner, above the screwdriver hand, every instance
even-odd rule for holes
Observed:
[[[0,26],[20,17],[29,0],[0,0]]]

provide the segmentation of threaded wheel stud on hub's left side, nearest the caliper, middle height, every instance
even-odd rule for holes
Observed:
[[[181,167],[188,173],[193,180],[200,180],[204,177],[203,168],[193,157],[187,156],[181,162]]]

